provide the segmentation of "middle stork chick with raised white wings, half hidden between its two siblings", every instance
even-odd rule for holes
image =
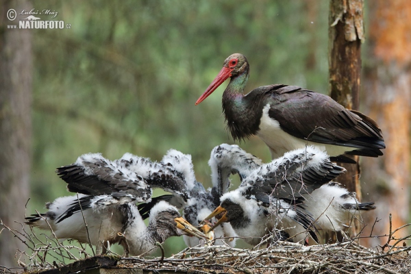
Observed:
[[[229,188],[230,180],[229,173],[221,164],[222,149],[220,146],[214,147],[210,155],[210,161],[208,164],[212,170],[212,188],[206,190],[203,184],[197,181],[195,178],[194,167],[192,165],[191,155],[184,154],[175,149],[167,151],[166,155],[162,158],[162,161],[157,164],[164,164],[169,171],[173,171],[175,177],[179,177],[184,184],[183,188],[179,192],[185,193],[188,197],[186,203],[179,203],[179,195],[162,195],[151,199],[149,203],[142,203],[138,205],[140,214],[142,217],[148,218],[150,216],[150,210],[159,201],[169,201],[171,204],[177,206],[177,208],[184,209],[184,218],[192,225],[199,225],[203,219],[208,216],[214,208],[219,206],[220,197],[227,192]],[[216,160],[219,158],[219,160]],[[134,169],[135,170],[135,169]],[[177,198],[177,199],[176,199]],[[177,203],[176,203],[177,202]],[[234,247],[236,245],[237,235],[232,229],[229,223],[221,225],[213,229],[212,232],[208,231],[209,226],[203,225],[201,227],[206,236],[212,241],[207,242],[208,245],[229,245]],[[214,235],[213,235],[214,234]],[[183,236],[184,242],[188,247],[195,247],[199,245],[201,240],[196,237]]]

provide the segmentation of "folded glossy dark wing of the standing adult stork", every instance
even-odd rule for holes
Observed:
[[[350,154],[377,157],[385,148],[381,129],[361,112],[347,110],[320,93],[298,86],[261,87],[270,96],[269,116],[297,138],[329,145],[353,147]],[[292,123],[288,123],[292,121]]]

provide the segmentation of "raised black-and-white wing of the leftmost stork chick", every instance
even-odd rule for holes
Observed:
[[[162,188],[187,200],[182,173],[175,171],[171,164],[151,162],[130,153],[114,161],[100,154],[85,154],[56,172],[71,192],[86,195],[129,193],[136,197],[136,202],[145,202],[151,198],[151,188]]]

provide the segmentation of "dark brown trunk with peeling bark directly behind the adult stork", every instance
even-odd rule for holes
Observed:
[[[362,0],[332,0],[329,4],[329,92],[332,99],[351,110],[358,110],[361,42],[364,40]],[[353,156],[358,161],[358,156]],[[338,182],[361,199],[358,164],[341,164],[347,173]],[[358,223],[356,223],[356,227]],[[358,232],[353,229],[353,236]]]

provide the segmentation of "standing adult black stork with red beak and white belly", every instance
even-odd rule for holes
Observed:
[[[332,161],[355,163],[346,155],[378,157],[385,148],[377,123],[320,93],[298,86],[260,86],[244,95],[249,63],[240,53],[229,55],[223,69],[199,97],[198,105],[231,78],[223,93],[223,112],[234,140],[260,137],[278,158],[286,151],[316,145]]]

